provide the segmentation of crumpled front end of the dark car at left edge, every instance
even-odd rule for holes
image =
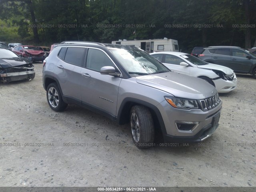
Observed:
[[[0,82],[12,82],[18,80],[32,80],[35,77],[34,66],[25,64],[9,68],[0,68]]]

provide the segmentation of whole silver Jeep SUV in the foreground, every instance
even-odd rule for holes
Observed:
[[[218,127],[222,101],[206,81],[171,72],[134,47],[94,42],[56,44],[43,64],[52,110],[78,104],[129,123],[138,148],[164,142],[200,142]]]

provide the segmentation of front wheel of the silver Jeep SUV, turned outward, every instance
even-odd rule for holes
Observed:
[[[153,146],[155,131],[150,110],[144,106],[133,106],[130,110],[132,140],[138,148]]]

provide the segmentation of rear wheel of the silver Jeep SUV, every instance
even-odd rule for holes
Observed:
[[[54,111],[63,111],[68,106],[68,104],[62,100],[60,89],[56,83],[51,83],[48,85],[46,90],[46,98],[50,108],[52,108]]]

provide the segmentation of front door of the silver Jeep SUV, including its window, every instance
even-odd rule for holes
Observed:
[[[98,48],[88,48],[86,64],[80,72],[82,105],[115,117],[122,78],[100,74],[100,68],[103,66],[113,66],[117,69],[106,52]]]

